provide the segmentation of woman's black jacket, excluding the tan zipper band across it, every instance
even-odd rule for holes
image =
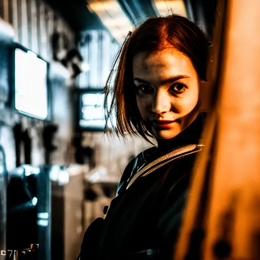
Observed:
[[[175,137],[173,149],[199,144],[202,116]],[[190,173],[197,153],[183,157],[138,177],[126,189],[138,169],[166,151],[150,148],[131,161],[118,185],[105,219],[96,219],[86,231],[81,260],[172,259],[181,225]]]

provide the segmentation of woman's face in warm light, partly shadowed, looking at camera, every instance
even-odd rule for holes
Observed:
[[[140,52],[133,76],[140,114],[155,138],[174,138],[198,116],[198,74],[182,52]]]

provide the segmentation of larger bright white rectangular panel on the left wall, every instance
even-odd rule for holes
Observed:
[[[48,64],[34,52],[15,49],[15,108],[39,119],[48,117]]]

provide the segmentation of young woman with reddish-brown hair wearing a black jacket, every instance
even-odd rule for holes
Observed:
[[[172,259],[200,137],[208,42],[188,19],[150,18],[129,34],[105,88],[118,135],[157,140],[126,167],[105,219],[86,231],[81,260]],[[113,74],[115,73],[115,75]],[[112,106],[108,96],[112,94]]]

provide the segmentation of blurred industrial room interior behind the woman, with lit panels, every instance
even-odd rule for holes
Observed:
[[[0,257],[35,244],[34,259],[77,258],[150,146],[103,134],[103,89],[128,31],[177,13],[211,39],[217,11],[216,0],[0,0]]]

